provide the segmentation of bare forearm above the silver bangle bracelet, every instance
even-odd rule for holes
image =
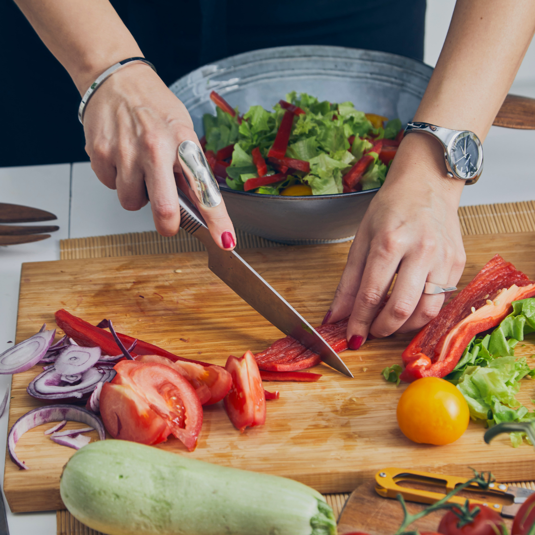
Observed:
[[[108,0],[15,0],[80,94],[114,63],[142,56]]]

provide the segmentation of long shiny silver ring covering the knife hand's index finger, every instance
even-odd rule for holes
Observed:
[[[221,192],[204,152],[193,141],[182,141],[178,147],[180,166],[189,188],[198,201],[207,208],[221,202]]]

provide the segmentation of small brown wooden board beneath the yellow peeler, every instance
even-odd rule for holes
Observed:
[[[476,496],[473,496],[476,498]],[[477,499],[477,498],[476,498]],[[422,511],[426,505],[420,503],[407,503],[409,514],[415,515]],[[427,516],[419,518],[408,526],[408,530],[420,533],[425,531],[437,531],[442,516],[446,514],[444,509],[433,511]],[[349,496],[340,518],[338,519],[338,534],[349,535],[361,532],[369,535],[392,535],[403,522],[403,510],[398,500],[381,498],[375,492],[375,481],[363,483]],[[513,525],[512,518],[503,518],[508,532]]]

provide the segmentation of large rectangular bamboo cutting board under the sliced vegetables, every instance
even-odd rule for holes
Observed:
[[[535,278],[535,233],[464,238],[468,261],[463,287],[495,253]],[[346,263],[348,243],[243,250],[243,257],[313,325],[321,323]],[[95,258],[22,265],[17,341],[28,338],[65,308],[93,324],[113,320],[117,330],[175,354],[223,365],[228,355],[259,351],[281,333],[207,268],[205,253]],[[60,334],[60,333],[59,333]],[[535,353],[534,335],[517,354]],[[406,385],[386,383],[381,370],[401,362],[410,335],[372,340],[342,356],[355,378],[326,365],[317,383],[265,383],[280,391],[268,402],[265,425],[240,434],[221,404],[207,407],[197,449],[175,439],[158,447],[235,468],[269,472],[322,493],[351,492],[385,465],[470,476],[468,468],[492,470],[502,480],[535,479],[535,452],[510,447],[508,437],[488,446],[484,428],[470,423],[447,446],[418,445],[400,432],[395,408]],[[533,366],[533,361],[529,361]],[[9,425],[40,406],[26,386],[40,366],[13,376]],[[533,387],[523,381],[519,399],[532,407]],[[71,424],[76,426],[76,424]],[[6,457],[4,492],[12,511],[63,508],[58,487],[74,450],[27,432],[17,454],[28,470]]]

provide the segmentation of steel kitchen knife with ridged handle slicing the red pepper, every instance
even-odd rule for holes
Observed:
[[[178,189],[178,197],[180,226],[207,248],[209,269],[270,323],[317,353],[331,368],[348,377],[353,377],[338,354],[284,297],[251,268],[238,253],[219,248],[213,241],[200,212],[180,189]]]

